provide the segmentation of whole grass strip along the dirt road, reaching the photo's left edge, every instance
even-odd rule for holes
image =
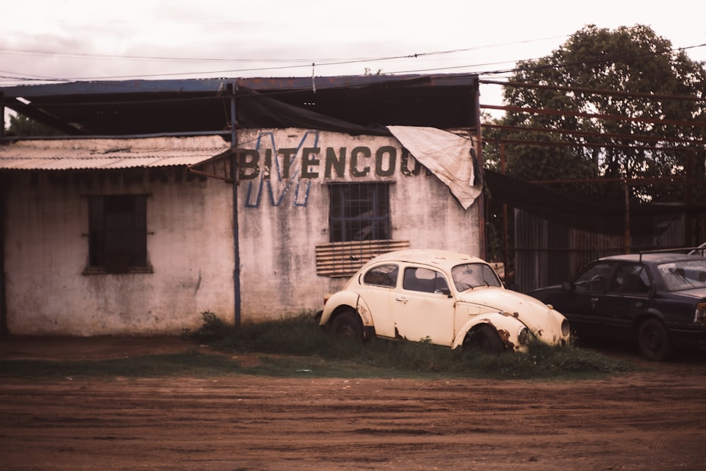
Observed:
[[[299,316],[234,327],[203,313],[203,327],[185,332],[192,351],[95,361],[0,360],[0,377],[116,378],[253,374],[336,378],[596,378],[632,371],[620,359],[580,347],[532,345],[528,354],[488,354],[451,350],[429,342],[375,339],[359,343],[318,327]],[[203,353],[196,344],[222,354]],[[247,361],[241,361],[246,357]]]

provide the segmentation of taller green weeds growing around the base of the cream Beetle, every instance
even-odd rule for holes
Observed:
[[[215,350],[229,353],[277,354],[313,357],[316,362],[345,363],[370,371],[373,376],[453,375],[493,378],[551,378],[599,376],[630,371],[618,359],[575,346],[532,345],[527,354],[486,354],[476,350],[451,350],[422,342],[373,339],[359,344],[338,338],[318,327],[312,316],[246,324],[239,328],[215,321],[203,313],[204,324],[191,338],[208,342]],[[367,375],[364,375],[367,376]]]

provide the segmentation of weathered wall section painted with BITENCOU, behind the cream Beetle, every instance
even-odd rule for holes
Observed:
[[[321,309],[325,294],[340,290],[347,281],[316,274],[315,245],[329,242],[328,181],[393,182],[393,239],[409,240],[412,248],[479,254],[477,204],[463,210],[433,174],[424,169],[413,174],[417,162],[412,157],[402,167],[402,148],[395,138],[253,130],[239,132],[238,146],[249,151],[238,189],[243,321],[314,312]],[[386,152],[376,165],[376,151],[385,146],[393,148],[394,155]],[[371,150],[371,157],[360,154],[352,171],[351,154],[357,147]],[[289,165],[282,159],[287,148],[297,149]],[[305,148],[319,151],[306,157],[310,165],[303,166]],[[338,157],[345,155],[343,175],[327,175],[329,148]]]

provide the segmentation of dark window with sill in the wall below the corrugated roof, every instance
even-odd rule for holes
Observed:
[[[149,270],[147,197],[92,196],[89,204],[89,270],[129,273]]]

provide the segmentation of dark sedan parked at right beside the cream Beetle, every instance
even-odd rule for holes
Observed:
[[[590,263],[572,282],[529,292],[579,338],[636,342],[652,361],[706,345],[706,257],[650,253]]]

